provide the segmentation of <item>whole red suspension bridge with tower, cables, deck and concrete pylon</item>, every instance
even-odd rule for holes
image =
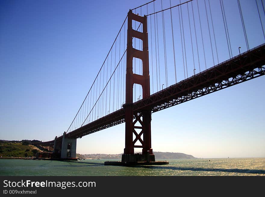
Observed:
[[[265,74],[264,22],[262,0],[156,0],[129,10],[68,130],[35,144],[74,158],[77,138],[125,122],[122,163],[154,162],[152,113]]]

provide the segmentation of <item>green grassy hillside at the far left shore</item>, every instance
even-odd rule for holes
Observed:
[[[39,151],[37,147],[30,145],[28,140],[0,140],[0,157],[33,157]]]

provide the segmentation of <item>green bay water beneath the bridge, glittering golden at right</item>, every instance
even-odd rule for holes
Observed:
[[[104,161],[0,159],[0,176],[265,176],[265,158],[170,159],[152,166],[104,166]]]

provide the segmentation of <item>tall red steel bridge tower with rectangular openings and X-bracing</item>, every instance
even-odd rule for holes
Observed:
[[[143,32],[133,29],[132,21],[142,23]],[[142,51],[133,48],[133,37],[142,40]],[[142,60],[142,75],[133,73],[133,58]],[[126,103],[123,105],[125,110],[125,148],[122,155],[122,163],[138,161],[155,161],[151,148],[151,109],[133,112],[133,85],[142,86],[143,99],[150,96],[150,76],[149,76],[149,57],[148,57],[148,32],[147,16],[139,16],[129,10],[128,30],[127,30],[127,59],[126,59]],[[135,121],[133,119],[135,118]],[[135,126],[139,122],[141,126]],[[136,129],[141,129],[140,133]],[[133,139],[133,134],[136,138]],[[141,136],[143,135],[143,139]],[[142,145],[135,145],[137,141]],[[134,148],[142,148],[141,154],[134,154]]]

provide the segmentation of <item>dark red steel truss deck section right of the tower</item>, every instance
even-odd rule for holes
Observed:
[[[134,103],[134,111],[152,113],[264,75],[265,47],[261,45]]]

